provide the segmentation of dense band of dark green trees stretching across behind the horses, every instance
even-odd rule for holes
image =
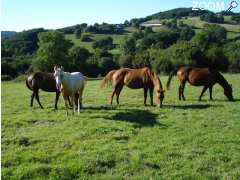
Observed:
[[[139,21],[133,19],[125,22],[124,27],[136,27],[136,23]],[[227,39],[226,30],[218,25],[206,25],[196,33],[193,27],[176,18],[163,21],[163,26],[168,30],[155,32],[150,27],[137,26],[137,31],[120,44],[120,54],[110,53],[116,45],[109,36],[95,40],[91,52],[65,39],[65,34],[70,33],[82,41],[93,41],[91,32],[108,29],[106,23],[93,25],[98,30],[83,23],[56,31],[40,28],[17,33],[2,38],[2,74],[16,77],[33,70],[52,72],[56,64],[92,77],[103,76],[119,67],[143,66],[158,73],[169,73],[180,66],[210,66],[225,72],[240,72],[240,37]],[[121,33],[125,31],[122,26],[111,27],[121,29]],[[108,34],[116,33],[111,27]],[[102,32],[106,33],[106,29]]]

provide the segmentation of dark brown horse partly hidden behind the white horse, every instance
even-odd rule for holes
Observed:
[[[26,86],[33,92],[31,95],[30,106],[33,106],[33,99],[35,97],[39,106],[43,109],[43,106],[39,100],[39,89],[42,89],[43,91],[47,92],[56,92],[55,109],[57,109],[57,102],[60,95],[60,91],[56,88],[56,81],[53,73],[45,72],[33,73],[27,77]]]

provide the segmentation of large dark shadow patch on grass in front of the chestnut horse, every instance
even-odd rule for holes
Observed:
[[[157,114],[154,114],[148,110],[128,109],[126,112],[118,112],[114,114],[109,119],[115,121],[127,121],[131,123],[136,123],[140,127],[154,125],[167,127],[165,124],[159,123],[157,121],[157,117]]]

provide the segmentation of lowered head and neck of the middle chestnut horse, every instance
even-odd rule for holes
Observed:
[[[154,79],[154,88],[156,91],[156,98],[157,98],[157,105],[159,107],[162,107],[163,99],[164,99],[164,92],[162,88],[162,83],[156,73],[153,73],[153,79]]]

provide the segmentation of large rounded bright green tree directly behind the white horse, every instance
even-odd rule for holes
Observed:
[[[54,65],[69,66],[68,50],[73,45],[58,31],[42,32],[38,35],[37,57],[33,66],[41,71],[51,72]]]

